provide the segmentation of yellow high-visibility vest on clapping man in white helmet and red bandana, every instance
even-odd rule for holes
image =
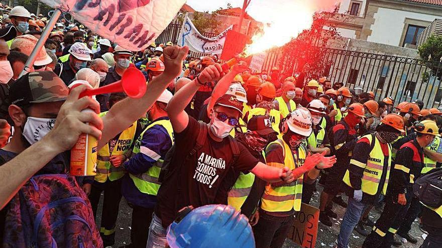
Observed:
[[[297,161],[294,161],[295,154],[292,153],[290,147],[282,139],[278,139],[270,144],[279,144],[282,147],[284,164],[275,164],[275,167],[286,166],[290,170],[298,168],[304,164],[306,157],[306,150],[304,146],[299,146]],[[268,165],[272,166],[272,162],[267,162]],[[300,176],[295,181],[283,185],[283,186],[272,186],[268,184],[261,198],[261,208],[268,212],[287,212],[292,209],[299,211],[301,209],[301,199],[302,199],[302,183],[304,176]]]

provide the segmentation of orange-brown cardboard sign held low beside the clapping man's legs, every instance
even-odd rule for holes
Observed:
[[[318,221],[319,209],[302,203],[301,210],[296,213],[295,222],[290,228],[288,238],[301,247],[314,248]]]

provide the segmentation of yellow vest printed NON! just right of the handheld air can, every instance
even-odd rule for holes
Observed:
[[[107,112],[100,113],[98,116],[102,117]],[[115,155],[123,155],[129,151],[134,141],[135,132],[137,131],[137,122],[134,122],[132,126],[121,132],[118,137],[117,143],[112,152],[109,152],[109,144],[104,145],[97,152],[97,167],[94,180],[97,182],[105,182],[107,178],[111,181],[122,178],[125,174],[123,168],[114,167],[109,161],[109,157]]]

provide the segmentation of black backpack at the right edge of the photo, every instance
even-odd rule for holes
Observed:
[[[413,194],[423,204],[437,208],[442,205],[442,168],[420,176],[413,185]]]

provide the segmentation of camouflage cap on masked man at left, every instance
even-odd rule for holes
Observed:
[[[66,100],[69,90],[53,72],[31,72],[11,85],[11,104],[49,103]]]

